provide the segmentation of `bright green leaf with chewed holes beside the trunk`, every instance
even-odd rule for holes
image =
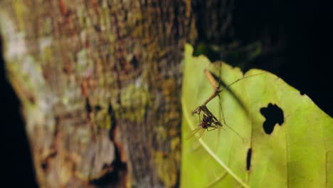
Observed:
[[[333,187],[332,117],[272,73],[252,69],[243,75],[238,68],[210,63],[192,53],[186,45],[181,187]],[[213,93],[205,68],[221,76],[226,85],[244,78],[225,88],[221,100],[216,97],[206,105],[218,119],[225,117],[243,140],[223,120],[223,128],[205,132],[199,140],[186,139],[200,123],[193,110]],[[270,103],[282,110],[283,123],[268,134],[260,109]]]

